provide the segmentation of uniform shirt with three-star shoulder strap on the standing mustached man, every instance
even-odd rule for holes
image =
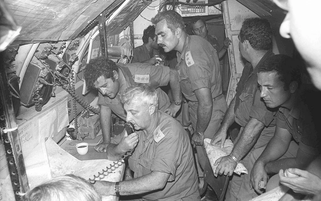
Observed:
[[[212,45],[196,35],[186,35],[183,50],[177,52],[178,78],[182,93],[189,101],[198,101],[195,90],[211,89],[212,98],[222,94],[220,61]]]

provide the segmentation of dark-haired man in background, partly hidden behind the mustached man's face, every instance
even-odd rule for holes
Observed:
[[[159,46],[157,45],[157,36],[155,35],[154,25],[149,25],[144,29],[143,45],[134,48],[133,59],[131,63],[148,63],[155,65],[160,58]]]

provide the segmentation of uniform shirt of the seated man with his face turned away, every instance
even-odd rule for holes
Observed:
[[[252,65],[247,62],[244,66],[242,76],[236,87],[235,101],[235,122],[244,127],[250,118],[255,118],[264,123],[266,127],[274,127],[274,115],[276,110],[268,109],[260,97],[260,90],[257,87],[257,72],[258,67],[262,65],[265,59],[274,55],[272,50],[269,50],[253,69]],[[270,133],[271,131],[267,131]],[[274,133],[274,129],[272,131]],[[265,133],[265,129],[262,131]]]

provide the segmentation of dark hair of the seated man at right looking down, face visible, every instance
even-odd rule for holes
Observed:
[[[301,68],[294,62],[294,59],[284,54],[277,54],[267,58],[258,67],[258,72],[277,72],[280,81],[284,83],[284,89],[288,90],[291,82],[301,85]]]

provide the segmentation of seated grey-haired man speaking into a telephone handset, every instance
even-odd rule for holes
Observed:
[[[121,182],[96,181],[104,196],[139,195],[144,200],[200,200],[192,147],[184,128],[171,116],[158,110],[155,89],[136,84],[121,95],[126,121],[136,132],[124,137],[123,150],[107,152],[109,160],[119,160],[127,151],[134,179]]]

